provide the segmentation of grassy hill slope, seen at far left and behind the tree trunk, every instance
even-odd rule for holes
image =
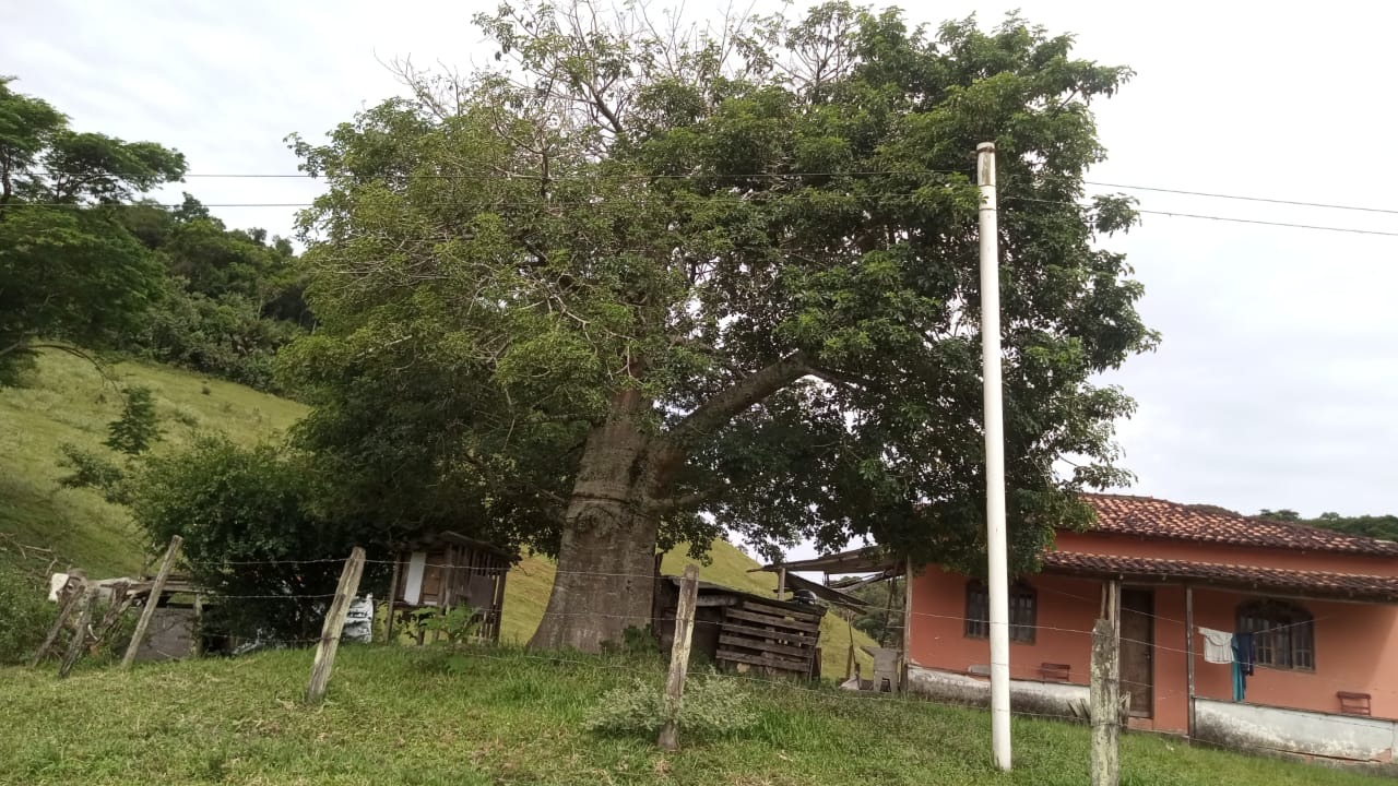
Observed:
[[[120,385],[144,385],[154,392],[165,436],[157,450],[187,443],[199,429],[218,429],[252,443],[285,432],[306,408],[295,401],[259,393],[242,385],[211,380],[168,366],[124,362],[109,373]],[[207,390],[207,393],[206,393]],[[81,566],[92,576],[130,573],[141,566],[138,540],[130,516],[91,490],[59,485],[63,443],[101,452],[106,427],[120,410],[113,382],[81,358],[48,351],[27,387],[0,389],[0,569],[46,569],[48,554],[25,559],[17,544],[52,548],[55,568]],[[665,555],[664,569],[678,573],[688,558],[681,547]],[[758,564],[726,541],[714,541],[712,562],[700,566],[705,580],[772,593],[776,578],[748,573]],[[506,582],[503,639],[524,642],[544,615],[554,565],[526,558]],[[856,631],[856,646],[872,643]],[[825,674],[844,674],[850,645],[847,627],[828,615],[822,627]],[[870,663],[863,650],[860,660]]]

